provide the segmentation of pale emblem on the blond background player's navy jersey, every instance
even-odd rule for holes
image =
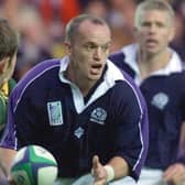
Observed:
[[[159,108],[160,110],[163,110],[164,107],[167,105],[167,102],[168,102],[168,96],[164,92],[159,92],[153,97],[151,104],[156,108]]]

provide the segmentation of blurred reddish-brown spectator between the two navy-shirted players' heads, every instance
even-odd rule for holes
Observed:
[[[134,42],[133,18],[135,0],[109,0],[109,24],[112,29],[111,52],[121,48],[123,45]]]

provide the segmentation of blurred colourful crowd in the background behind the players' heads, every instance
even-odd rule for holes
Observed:
[[[112,30],[111,52],[134,42],[133,18],[141,0],[1,0],[0,17],[20,32],[21,44],[14,78],[18,81],[36,63],[62,57],[65,24],[79,13],[104,18]],[[176,12],[172,47],[185,61],[185,0],[168,0]]]

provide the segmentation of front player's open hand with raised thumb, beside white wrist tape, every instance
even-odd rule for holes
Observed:
[[[92,159],[92,176],[95,178],[94,185],[106,185],[107,183],[107,171],[104,165],[99,162],[97,155]]]

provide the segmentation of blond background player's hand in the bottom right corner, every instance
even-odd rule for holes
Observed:
[[[185,165],[175,163],[165,170],[163,178],[173,185],[185,185]]]

